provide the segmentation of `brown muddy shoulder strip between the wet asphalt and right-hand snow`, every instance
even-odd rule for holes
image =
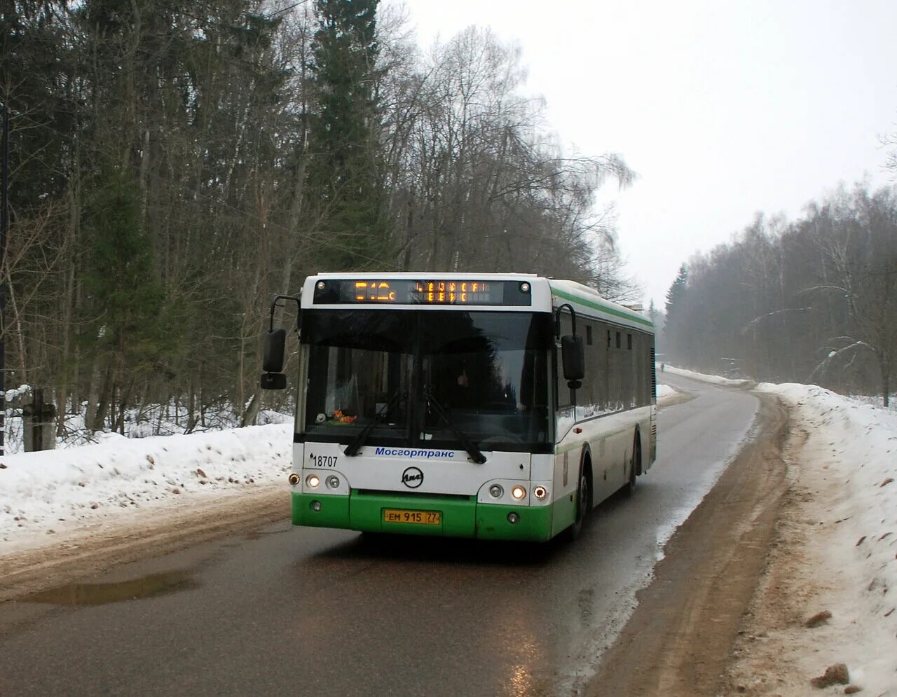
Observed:
[[[756,437],[667,543],[586,694],[719,692],[787,488],[788,411],[760,397]]]

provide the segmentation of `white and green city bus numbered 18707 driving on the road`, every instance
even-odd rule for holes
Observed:
[[[261,384],[286,388],[292,523],[544,542],[657,456],[654,329],[535,274],[316,274],[271,305]]]

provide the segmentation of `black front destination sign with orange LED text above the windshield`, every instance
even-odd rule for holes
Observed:
[[[327,279],[315,284],[316,305],[524,305],[526,281]]]

